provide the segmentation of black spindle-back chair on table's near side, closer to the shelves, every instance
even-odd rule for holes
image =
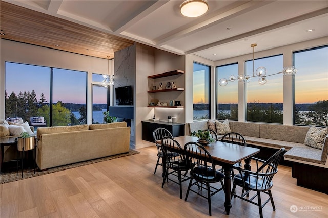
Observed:
[[[187,164],[185,151],[181,148],[180,144],[171,136],[165,136],[161,140],[161,147],[163,154],[166,157],[166,171],[163,177],[162,187],[164,187],[165,180],[172,181],[179,185],[180,188],[180,199],[182,199],[182,182],[190,179],[186,176],[190,165]],[[179,155],[170,155],[170,154]],[[169,172],[169,169],[172,169]],[[181,171],[185,171],[185,175],[182,178]],[[177,176],[178,181],[169,178],[169,175]]]

